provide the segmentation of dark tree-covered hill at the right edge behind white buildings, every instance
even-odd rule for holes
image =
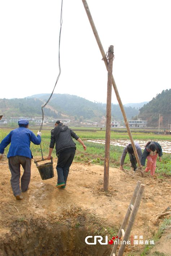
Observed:
[[[161,125],[167,128],[168,120],[171,120],[171,89],[163,90],[140,108],[139,118],[148,120],[148,126],[157,126],[159,114],[161,114]]]

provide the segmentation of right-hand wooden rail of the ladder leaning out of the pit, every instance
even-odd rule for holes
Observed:
[[[128,222],[128,226],[127,226],[127,229],[125,231],[125,235],[124,235],[122,241],[126,241],[126,242],[128,241],[128,238],[130,236],[133,223],[135,221],[136,214],[137,214],[139,206],[140,206],[140,202],[141,202],[142,194],[144,192],[144,188],[145,188],[145,185],[141,184],[140,188],[139,188],[139,191],[138,191],[138,194],[137,194],[135,205],[134,205],[133,210],[131,212],[131,217],[130,217],[130,220]],[[126,247],[126,244],[122,244],[120,246],[119,251],[118,251],[118,256],[123,256],[125,247]]]

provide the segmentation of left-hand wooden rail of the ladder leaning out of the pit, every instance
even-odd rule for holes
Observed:
[[[137,184],[136,184],[135,190],[133,192],[130,205],[128,206],[128,210],[127,210],[126,216],[125,216],[125,218],[124,218],[124,220],[122,222],[122,225],[120,226],[120,229],[119,229],[119,232],[118,232],[118,238],[115,238],[115,241],[119,240],[119,237],[121,237],[121,235],[122,235],[122,229],[125,229],[125,227],[127,225],[128,219],[129,219],[130,214],[131,214],[131,205],[133,205],[135,203],[135,200],[136,200],[137,193],[139,191],[140,185],[141,185],[141,182],[138,181]],[[113,253],[116,253],[117,248],[118,248],[118,244],[117,243],[115,243],[110,256],[112,256]]]

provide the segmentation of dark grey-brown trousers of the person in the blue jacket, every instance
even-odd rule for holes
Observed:
[[[14,196],[20,195],[21,191],[25,192],[30,183],[31,177],[31,159],[16,155],[15,157],[8,158],[9,170],[11,172],[11,186]],[[19,187],[20,179],[20,165],[22,165],[24,172],[21,177],[21,189]]]

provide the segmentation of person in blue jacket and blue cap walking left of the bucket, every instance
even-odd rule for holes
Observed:
[[[40,145],[41,132],[38,132],[38,136],[28,129],[29,121],[21,119],[18,121],[19,128],[11,131],[0,144],[0,159],[4,157],[4,149],[10,145],[8,151],[8,164],[11,172],[11,186],[13,194],[16,199],[23,199],[21,192],[26,192],[31,176],[31,150],[30,142],[35,145]],[[24,172],[21,177],[21,189],[19,187],[20,179],[20,165],[22,165]]]

